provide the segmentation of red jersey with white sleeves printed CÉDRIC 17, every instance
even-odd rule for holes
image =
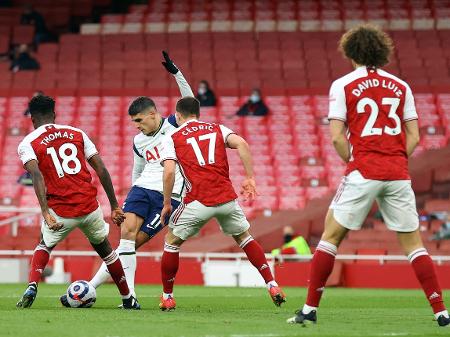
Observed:
[[[164,139],[161,160],[178,162],[186,180],[185,204],[197,200],[216,206],[237,198],[226,152],[232,133],[223,125],[190,120]]]

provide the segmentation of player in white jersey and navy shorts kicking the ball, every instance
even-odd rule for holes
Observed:
[[[163,52],[164,67],[174,75],[181,96],[194,93],[183,74],[175,66],[166,52]],[[134,137],[134,166],[132,188],[123,205],[125,221],[121,225],[121,239],[116,249],[125,271],[128,287],[135,296],[134,277],[136,273],[136,249],[148,242],[162,228],[160,214],[163,207],[163,166],[160,161],[161,141],[165,134],[176,129],[175,116],[164,118],[156,109],[154,101],[148,97],[136,98],[128,108],[131,121],[140,133]],[[178,170],[172,194],[173,209],[177,209],[184,192],[184,179]],[[109,279],[105,264],[97,271],[90,283],[97,288]],[[61,303],[68,306],[66,296]]]

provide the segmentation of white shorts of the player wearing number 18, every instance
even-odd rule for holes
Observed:
[[[50,214],[56,221],[61,222],[63,227],[58,231],[52,231],[47,224],[42,221],[41,233],[47,247],[54,247],[64,240],[64,238],[75,228],[80,228],[86,235],[90,243],[94,245],[101,243],[109,233],[109,224],[103,219],[102,209],[99,207],[92,213],[77,218],[63,218],[57,215],[52,209]]]

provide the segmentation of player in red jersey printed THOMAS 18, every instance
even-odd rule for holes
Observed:
[[[103,219],[96,198],[97,189],[91,182],[86,165],[87,161],[97,173],[111,205],[111,218],[120,225],[124,214],[95,145],[82,130],[55,124],[55,101],[51,97],[34,97],[28,107],[35,130],[19,144],[18,153],[33,179],[44,219],[41,242],[31,260],[29,284],[17,307],[31,307],[52,249],[78,227],[108,266],[122,295],[123,307],[139,309],[128,289],[122,264],[109,244],[108,225]]]

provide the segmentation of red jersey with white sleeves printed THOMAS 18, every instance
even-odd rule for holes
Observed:
[[[75,218],[98,208],[97,189],[86,160],[97,149],[80,129],[57,124],[40,126],[18,148],[22,163],[37,160],[47,187],[47,202],[61,217]]]

